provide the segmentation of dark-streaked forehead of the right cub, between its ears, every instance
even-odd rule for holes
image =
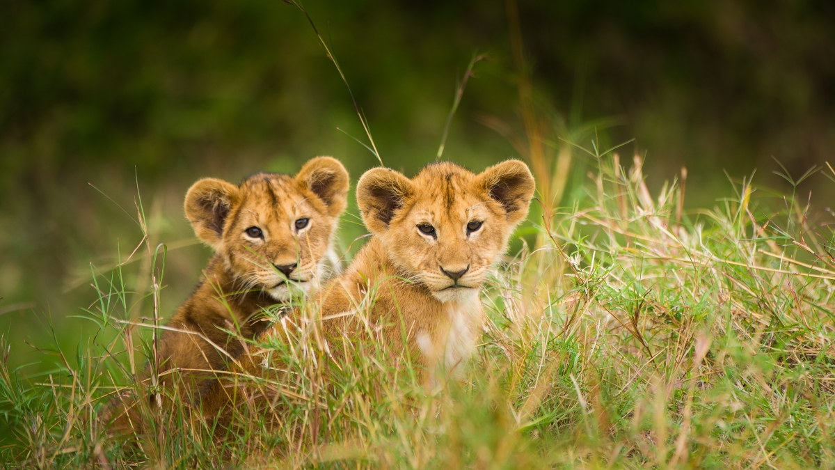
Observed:
[[[486,194],[476,184],[477,176],[461,166],[442,162],[427,166],[415,176],[415,209],[434,217],[471,217],[483,212]],[[440,213],[438,213],[440,212]]]

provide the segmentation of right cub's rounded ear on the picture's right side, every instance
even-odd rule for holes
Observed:
[[[478,184],[504,207],[508,222],[516,224],[528,216],[536,183],[522,161],[509,160],[490,166],[478,175]]]

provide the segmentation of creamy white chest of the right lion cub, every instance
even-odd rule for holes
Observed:
[[[450,371],[460,371],[472,355],[482,324],[482,307],[478,295],[472,299],[443,304],[438,324],[431,331],[417,333],[417,346],[428,365],[443,364]]]

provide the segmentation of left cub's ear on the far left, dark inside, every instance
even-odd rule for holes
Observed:
[[[226,217],[237,195],[237,186],[215,178],[204,178],[190,187],[185,194],[185,217],[195,228],[197,238],[212,248],[220,248]]]

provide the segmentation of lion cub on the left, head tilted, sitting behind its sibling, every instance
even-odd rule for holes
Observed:
[[[226,354],[243,348],[225,330],[254,339],[266,328],[256,319],[261,309],[290,300],[292,286],[316,286],[347,191],[345,167],[327,156],[296,176],[257,173],[238,186],[214,178],[191,186],[185,215],[215,255],[161,337],[159,372],[177,367],[194,380],[224,369]]]

